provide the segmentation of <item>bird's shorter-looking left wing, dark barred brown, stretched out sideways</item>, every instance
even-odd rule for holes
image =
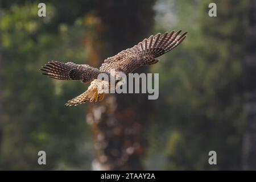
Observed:
[[[101,72],[97,68],[88,64],[75,64],[72,62],[61,63],[60,61],[49,61],[41,69],[43,75],[58,80],[82,80],[82,82],[92,81]]]

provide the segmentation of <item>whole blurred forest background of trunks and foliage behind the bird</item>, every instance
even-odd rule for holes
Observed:
[[[40,2],[44,18],[39,1],[0,1],[0,169],[256,169],[256,1]],[[180,29],[180,46],[135,71],[159,73],[158,100],[110,94],[66,107],[88,85],[39,71],[49,60],[97,67]]]

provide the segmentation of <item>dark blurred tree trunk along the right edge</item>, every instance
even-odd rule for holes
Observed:
[[[256,170],[256,0],[249,7],[249,28],[246,47],[246,133],[243,138],[243,169]]]

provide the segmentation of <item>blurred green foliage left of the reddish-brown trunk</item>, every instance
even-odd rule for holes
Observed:
[[[1,19],[3,77],[3,169],[90,169],[90,130],[82,107],[68,108],[65,101],[84,90],[78,82],[49,80],[39,68],[47,60],[76,60],[86,54],[80,39],[82,20],[72,26],[60,23],[47,30],[56,15],[47,4],[47,18],[39,18],[36,3],[12,5]],[[65,92],[63,92],[65,90]],[[46,151],[47,165],[37,164]]]

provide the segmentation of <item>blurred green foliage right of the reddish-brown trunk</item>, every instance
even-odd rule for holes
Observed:
[[[187,39],[153,68],[160,94],[152,122],[160,135],[150,155],[162,156],[160,169],[241,169],[248,3],[215,1],[212,18],[210,2],[176,1],[176,27],[188,31]],[[208,164],[211,150],[217,166]]]

